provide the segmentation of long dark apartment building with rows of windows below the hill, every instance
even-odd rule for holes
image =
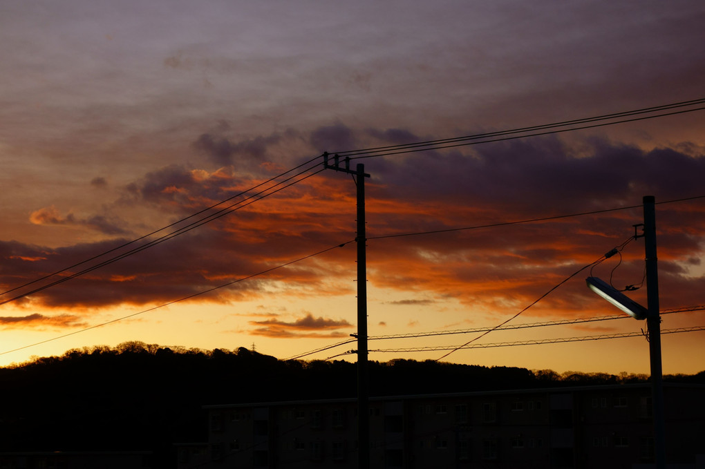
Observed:
[[[632,468],[653,461],[648,384],[372,398],[372,468]],[[668,461],[704,451],[705,387],[669,386]],[[208,406],[213,468],[357,468],[355,399]],[[182,466],[185,468],[185,466]],[[688,467],[688,466],[684,466]],[[694,467],[694,466],[692,466]]]

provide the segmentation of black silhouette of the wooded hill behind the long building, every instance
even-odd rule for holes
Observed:
[[[646,375],[563,373],[393,360],[369,363],[370,394],[392,396],[643,382]],[[346,361],[281,361],[244,347],[185,349],[143,342],[85,347],[0,368],[0,451],[152,451],[205,442],[202,406],[354,398]],[[666,380],[705,382],[705,372]]]

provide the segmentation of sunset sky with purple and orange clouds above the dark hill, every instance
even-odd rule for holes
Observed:
[[[0,0],[0,365],[128,341],[355,361],[333,345],[357,331],[356,182],[324,151],[702,99],[704,21],[693,0]],[[639,333],[443,361],[648,374],[646,324],[628,317],[424,333],[620,314],[588,275],[640,285],[627,294],[646,304],[644,196],[661,310],[704,305],[697,107],[353,161],[370,175],[369,358]],[[236,209],[92,269],[221,201]],[[375,338],[391,334],[419,337]],[[705,370],[704,338],[664,333],[663,373]]]

